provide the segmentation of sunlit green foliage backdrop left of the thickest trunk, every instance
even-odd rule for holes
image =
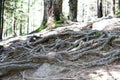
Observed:
[[[29,2],[30,1],[30,2]],[[29,24],[29,32],[36,29],[40,23],[36,22],[34,13],[36,4],[43,4],[40,0],[6,0],[4,4],[4,37],[12,37],[15,22],[15,32],[17,35],[26,34]],[[30,3],[30,5],[28,5]],[[28,8],[30,8],[28,12]],[[41,8],[40,8],[41,10]],[[29,17],[29,20],[28,20]],[[39,18],[39,17],[38,17]],[[29,21],[29,23],[28,23]],[[21,29],[21,30],[20,30]],[[38,29],[39,30],[39,29]]]

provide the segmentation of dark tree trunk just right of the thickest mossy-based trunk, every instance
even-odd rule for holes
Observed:
[[[68,19],[75,22],[77,21],[77,4],[78,4],[78,0],[69,0]]]

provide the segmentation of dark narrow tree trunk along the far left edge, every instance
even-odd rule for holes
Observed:
[[[4,22],[4,0],[0,0],[0,40],[2,40]]]

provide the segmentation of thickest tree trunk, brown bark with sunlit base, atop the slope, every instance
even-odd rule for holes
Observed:
[[[41,26],[55,26],[54,21],[59,21],[62,14],[63,0],[44,0],[44,16]]]

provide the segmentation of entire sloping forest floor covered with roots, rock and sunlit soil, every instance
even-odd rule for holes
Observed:
[[[0,42],[0,80],[120,80],[120,18]]]

